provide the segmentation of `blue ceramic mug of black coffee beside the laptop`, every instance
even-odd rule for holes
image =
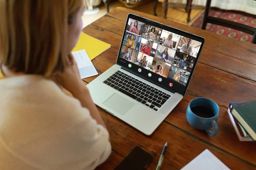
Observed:
[[[198,116],[192,111],[193,110],[192,108],[194,108],[195,106],[203,106],[205,108],[208,108],[214,113],[214,115],[212,115],[212,117],[206,117],[204,115]],[[218,115],[219,115],[218,105],[215,102],[213,102],[211,99],[207,99],[204,97],[198,97],[198,98],[192,99],[189,102],[189,106],[186,111],[186,118],[189,124],[195,129],[205,130],[210,136],[215,136],[218,133],[218,125],[216,123],[218,119]],[[210,128],[212,127],[213,127],[213,133],[210,131]]]

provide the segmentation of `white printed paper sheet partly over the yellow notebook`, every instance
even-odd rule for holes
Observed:
[[[85,50],[74,51],[72,54],[79,68],[81,79],[98,75],[98,72]]]

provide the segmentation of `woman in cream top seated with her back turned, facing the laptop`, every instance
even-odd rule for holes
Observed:
[[[110,155],[71,54],[83,12],[83,0],[0,1],[0,169],[92,170]]]

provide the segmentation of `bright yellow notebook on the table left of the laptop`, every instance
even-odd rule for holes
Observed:
[[[72,52],[85,49],[90,60],[93,60],[95,57],[99,56],[99,54],[102,54],[104,51],[106,51],[110,47],[111,47],[110,44],[103,42],[101,40],[98,40],[96,38],[93,38],[82,32]]]

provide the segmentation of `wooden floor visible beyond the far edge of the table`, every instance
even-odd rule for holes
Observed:
[[[119,2],[118,0],[112,0],[111,3],[109,4],[110,11],[113,10],[114,8],[122,6],[125,7],[124,3]],[[167,20],[172,20],[177,23],[182,23],[182,24],[187,24],[186,18],[188,17],[188,14],[185,12],[184,8],[174,8],[172,7],[174,4],[170,3],[168,12],[167,12]],[[148,0],[146,3],[143,4],[143,6],[138,6],[135,8],[132,8],[137,11],[144,12],[146,14],[154,14],[153,12],[153,7],[154,7],[154,0]],[[157,16],[163,17],[163,5],[162,3],[158,2],[157,4]],[[202,11],[202,9],[192,9],[190,18],[193,20],[198,14]],[[105,6],[100,7],[100,11],[97,14],[94,15],[84,15],[83,16],[83,26],[87,26],[93,21],[99,19],[103,15],[107,13]]]

